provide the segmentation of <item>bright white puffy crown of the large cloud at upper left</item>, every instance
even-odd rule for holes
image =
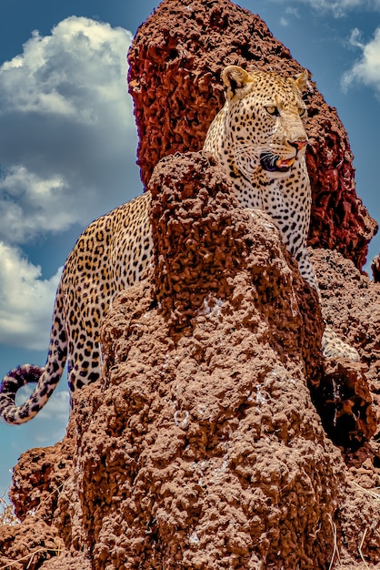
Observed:
[[[52,30],[37,31],[24,53],[0,70],[7,111],[62,115],[95,122],[99,104],[114,103],[126,119],[126,51],[132,35],[124,28],[71,16]]]

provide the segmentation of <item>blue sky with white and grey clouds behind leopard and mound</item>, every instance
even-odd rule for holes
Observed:
[[[143,191],[125,56],[158,4],[0,0],[1,377],[25,362],[44,365],[68,252],[88,223]],[[236,4],[265,20],[337,108],[356,192],[380,221],[380,0]],[[380,236],[366,270],[379,251]],[[31,422],[0,422],[0,497],[20,453],[65,435],[66,386],[64,375]]]

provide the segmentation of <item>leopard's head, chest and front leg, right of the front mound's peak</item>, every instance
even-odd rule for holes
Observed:
[[[312,192],[305,158],[307,106],[303,96],[311,89],[309,72],[304,69],[289,77],[226,66],[222,79],[225,106],[208,129],[203,149],[224,166],[239,203],[264,210],[273,219],[301,276],[323,306],[307,251]],[[359,361],[358,351],[324,324],[325,358]]]

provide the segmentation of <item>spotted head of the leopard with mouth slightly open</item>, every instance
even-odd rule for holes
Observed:
[[[305,155],[308,73],[292,77],[238,66],[223,72],[226,125],[235,168],[252,179],[258,169],[269,178],[287,178]]]

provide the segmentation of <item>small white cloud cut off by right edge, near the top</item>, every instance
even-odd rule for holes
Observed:
[[[363,43],[360,31],[355,28],[351,34],[350,44],[362,51],[362,56],[354,66],[342,77],[342,86],[346,90],[356,84],[374,87],[380,97],[380,27],[375,36],[367,44]]]

